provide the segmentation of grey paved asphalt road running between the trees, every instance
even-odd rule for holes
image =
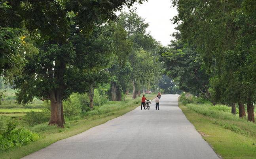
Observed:
[[[178,107],[162,95],[160,110],[135,110],[58,141],[25,159],[218,159]]]

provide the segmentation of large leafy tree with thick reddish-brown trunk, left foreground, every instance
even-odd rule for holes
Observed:
[[[51,100],[49,124],[64,127],[62,101],[72,92],[83,90],[83,70],[90,52],[80,52],[76,37],[86,37],[97,26],[115,19],[115,12],[142,0],[46,0],[9,1],[24,26],[35,35],[39,53],[26,55],[28,63],[22,76],[15,80],[19,102],[30,102],[34,96]],[[84,39],[86,40],[86,39]],[[107,38],[104,43],[110,43]],[[89,45],[88,47],[91,47]],[[107,45],[106,45],[107,46]],[[100,55],[110,48],[101,47]],[[82,54],[80,54],[82,53]]]

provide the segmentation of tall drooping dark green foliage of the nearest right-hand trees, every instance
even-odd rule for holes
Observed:
[[[210,87],[211,100],[253,105],[256,4],[251,0],[173,0],[173,5],[178,9],[173,20],[180,40],[198,52],[210,76],[205,86]],[[248,120],[254,122],[250,107]]]

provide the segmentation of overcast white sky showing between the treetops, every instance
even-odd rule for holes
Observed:
[[[173,24],[171,18],[177,15],[176,8],[171,7],[171,0],[148,0],[135,6],[138,15],[149,23],[150,34],[163,46],[170,44],[174,39],[171,34],[176,31],[176,24]]]

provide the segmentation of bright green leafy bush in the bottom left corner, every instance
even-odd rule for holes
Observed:
[[[29,142],[36,141],[39,139],[37,133],[20,128],[15,129],[17,124],[13,121],[9,121],[6,130],[0,133],[0,152],[9,150],[13,147],[22,146]]]

